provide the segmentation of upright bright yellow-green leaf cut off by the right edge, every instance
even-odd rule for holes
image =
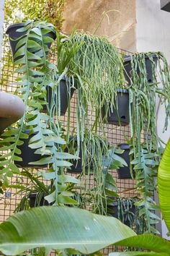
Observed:
[[[170,139],[158,167],[158,197],[162,216],[170,232]]]

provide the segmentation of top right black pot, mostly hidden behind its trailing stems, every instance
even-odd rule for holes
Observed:
[[[125,57],[124,59],[124,75],[125,75],[125,80],[127,80],[128,84],[130,85],[130,79],[132,78],[131,72],[132,72],[132,67],[131,67],[131,56]],[[153,61],[157,64],[157,57],[155,54],[153,54]],[[140,70],[137,68],[138,75],[140,75]],[[149,83],[153,82],[153,74],[152,74],[152,66],[151,66],[151,61],[148,59],[146,56],[146,72],[147,72],[147,79]]]

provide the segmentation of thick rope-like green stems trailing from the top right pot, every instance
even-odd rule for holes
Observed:
[[[146,59],[151,61],[152,82],[147,79]],[[164,104],[166,119],[164,130],[170,119],[170,73],[168,63],[161,53],[134,54],[131,58],[130,92],[130,132],[135,152],[140,153],[142,132],[148,150],[158,149],[156,130],[156,96]],[[137,143],[138,147],[135,147]],[[134,153],[135,153],[134,152]],[[158,151],[157,151],[158,152]]]

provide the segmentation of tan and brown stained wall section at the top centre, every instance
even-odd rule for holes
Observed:
[[[93,33],[102,13],[109,12],[97,30],[97,35],[109,36],[115,46],[135,51],[135,0],[67,0],[64,10],[63,31],[71,33],[73,25]]]

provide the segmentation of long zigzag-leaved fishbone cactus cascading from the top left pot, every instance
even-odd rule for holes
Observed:
[[[1,135],[1,150],[10,150],[3,155],[3,161],[0,163],[3,188],[8,186],[8,176],[20,174],[14,161],[22,161],[19,157],[21,150],[18,147],[23,144],[23,139],[28,137],[25,130],[29,130],[30,135],[33,135],[29,147],[35,149],[36,154],[42,155],[40,161],[36,161],[34,165],[48,165],[48,171],[43,174],[45,179],[52,182],[50,195],[47,195],[48,202],[55,205],[75,204],[77,202],[70,198],[73,193],[65,192],[66,181],[78,181],[69,179],[69,176],[61,177],[61,174],[63,168],[71,165],[67,160],[76,156],[63,153],[62,145],[66,142],[62,138],[61,125],[55,123],[55,116],[51,116],[50,111],[42,111],[43,105],[48,105],[46,86],[50,85],[53,88],[58,85],[58,81],[55,81],[52,75],[56,67],[49,63],[47,55],[47,43],[53,42],[48,33],[55,33],[55,29],[46,22],[28,21],[18,31],[24,34],[17,43],[14,64],[19,65],[15,72],[22,73],[17,78],[17,92],[21,94],[26,111],[16,127],[7,129]],[[55,105],[53,92],[52,99],[51,106]]]

